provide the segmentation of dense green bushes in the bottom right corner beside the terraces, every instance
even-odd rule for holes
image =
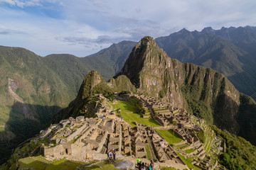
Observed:
[[[242,137],[235,137],[214,125],[211,128],[223,141],[224,153],[220,154],[220,164],[228,169],[256,169],[256,147]]]

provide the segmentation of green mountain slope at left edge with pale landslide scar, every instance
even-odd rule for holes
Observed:
[[[68,106],[73,94],[42,57],[18,47],[0,47],[0,79],[0,140],[4,155],[9,152],[6,148],[49,123],[53,113]]]

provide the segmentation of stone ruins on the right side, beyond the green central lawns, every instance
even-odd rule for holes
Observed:
[[[186,149],[195,149],[195,151],[191,154],[195,155],[201,160],[206,157],[207,153],[203,147],[203,143],[200,142],[198,136],[196,135],[200,131],[200,128],[195,123],[192,123],[190,118],[191,115],[189,115],[185,109],[174,108],[169,103],[161,101],[159,98],[152,98],[143,95],[136,95],[136,97],[142,101],[144,108],[147,108],[152,112],[151,116],[152,118],[154,118],[154,120],[156,120],[166,130],[174,130],[176,135],[183,139],[182,142],[179,142],[176,145],[186,146],[187,144],[189,145],[189,147],[186,147]],[[166,154],[160,153],[163,153],[163,149],[158,150],[157,157],[159,159],[161,159],[162,161],[164,159],[167,159]],[[184,154],[188,155],[186,153]],[[198,162],[196,162],[195,164],[198,164]],[[208,164],[206,165],[208,166]]]

